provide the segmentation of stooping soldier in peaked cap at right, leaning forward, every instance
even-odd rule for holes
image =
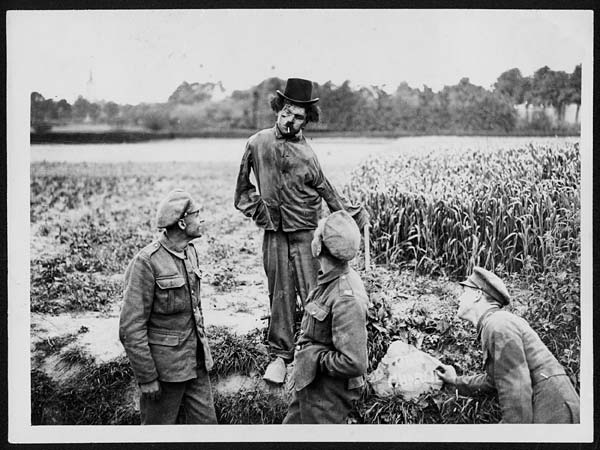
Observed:
[[[564,368],[529,324],[501,309],[510,296],[500,278],[475,267],[460,296],[458,317],[477,327],[486,373],[439,377],[463,395],[498,393],[503,423],[579,423],[579,396]]]

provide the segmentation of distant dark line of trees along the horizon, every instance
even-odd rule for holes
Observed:
[[[227,131],[269,127],[274,113],[268,98],[283,90],[285,80],[269,78],[246,90],[224,92],[221,83],[183,82],[164,103],[120,105],[112,101],[92,102],[80,96],[71,105],[66,100],[45,99],[31,94],[31,126],[47,131],[53,125],[104,123],[115,128],[142,127],[151,131]],[[439,92],[423,86],[415,89],[401,83],[393,93],[379,86],[353,88],[350,81],[314,83],[314,96],[321,100],[321,121],[312,129],[339,132],[387,133],[510,133],[515,130],[550,131],[569,129],[566,107],[581,105],[581,65],[572,73],[544,66],[532,76],[517,68],[503,72],[490,89],[476,86],[468,78]],[[515,105],[524,105],[521,117]],[[545,109],[553,108],[556,120]],[[529,114],[529,111],[533,112]]]

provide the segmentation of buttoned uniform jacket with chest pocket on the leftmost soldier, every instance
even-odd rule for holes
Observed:
[[[186,381],[198,363],[212,367],[195,245],[177,251],[163,234],[127,267],[119,338],[138,383]]]

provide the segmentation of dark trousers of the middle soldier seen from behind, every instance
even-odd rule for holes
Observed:
[[[292,399],[283,423],[345,423],[361,391],[349,390],[347,384],[348,380],[321,373],[304,389],[292,389]]]

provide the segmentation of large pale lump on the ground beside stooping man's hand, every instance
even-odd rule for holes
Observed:
[[[438,391],[443,382],[434,373],[440,361],[402,341],[390,344],[377,369],[367,381],[379,397],[400,395],[404,400]]]

